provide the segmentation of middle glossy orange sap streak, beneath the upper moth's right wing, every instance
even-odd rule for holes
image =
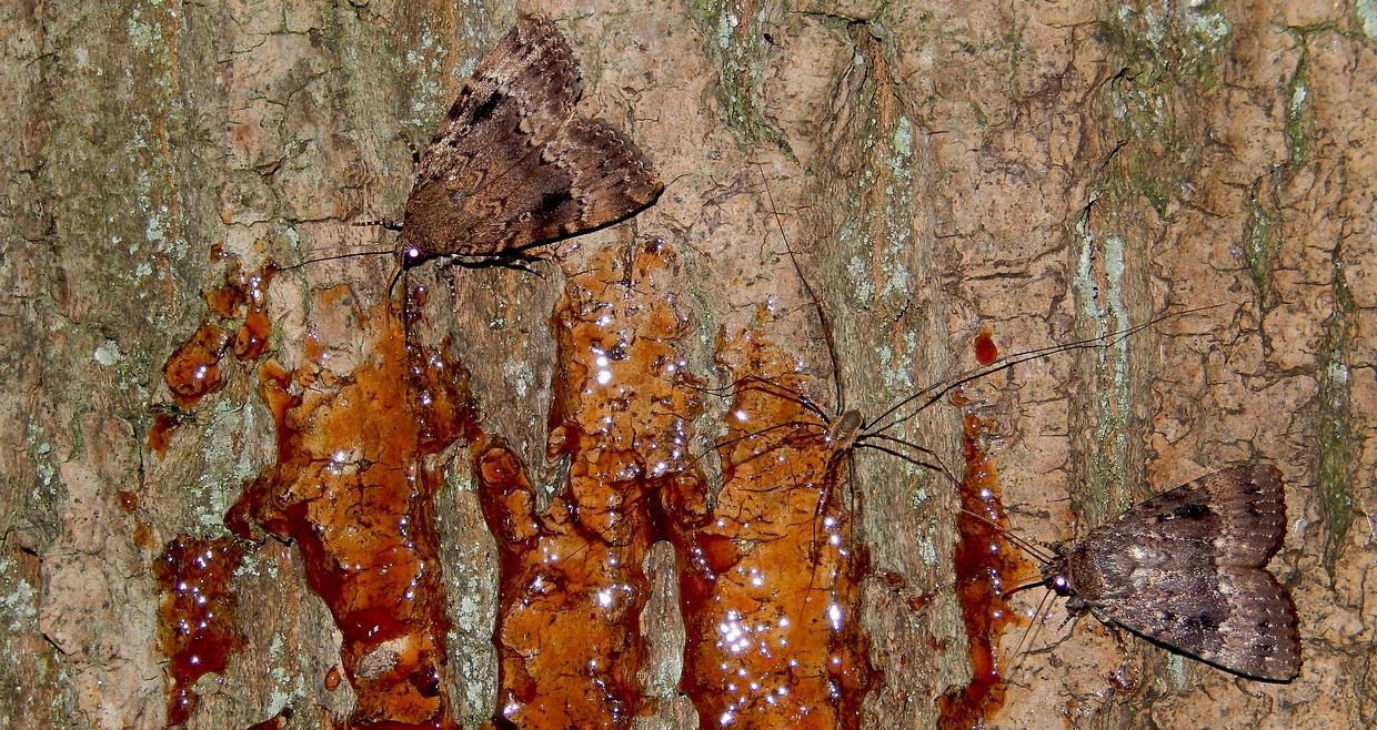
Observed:
[[[599,254],[567,282],[552,318],[548,455],[570,472],[548,510],[511,450],[479,455],[501,561],[497,726],[625,727],[655,712],[642,686],[643,565],[668,524],[702,518],[705,496],[687,454],[700,411],[677,349],[687,324],[660,294],[677,289],[673,271],[651,242],[629,261]]]

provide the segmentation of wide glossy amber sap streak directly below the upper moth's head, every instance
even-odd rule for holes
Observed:
[[[300,370],[262,368],[278,462],[226,524],[246,536],[252,520],[296,543],[307,583],[343,634],[344,675],[358,696],[351,723],[450,727],[434,524],[442,474],[427,456],[478,436],[467,374],[443,351],[406,342],[386,305],[354,320],[372,355],[351,373],[330,370],[335,344],[314,341],[314,362]]]

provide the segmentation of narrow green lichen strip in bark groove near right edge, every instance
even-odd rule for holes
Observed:
[[[1319,371],[1319,481],[1325,517],[1325,569],[1334,562],[1354,522],[1354,406],[1349,385],[1352,320],[1356,307],[1344,276],[1341,249],[1334,254],[1334,312],[1325,322]]]

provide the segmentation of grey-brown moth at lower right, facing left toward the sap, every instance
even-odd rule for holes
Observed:
[[[1282,544],[1281,472],[1243,465],[1206,474],[1058,550],[1042,580],[1092,612],[1170,650],[1268,682],[1300,672],[1296,604],[1267,561]]]

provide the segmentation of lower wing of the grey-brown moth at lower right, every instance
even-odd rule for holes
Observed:
[[[1096,612],[1223,670],[1286,682],[1300,672],[1296,604],[1261,568],[1159,576],[1162,584],[1096,604]]]

